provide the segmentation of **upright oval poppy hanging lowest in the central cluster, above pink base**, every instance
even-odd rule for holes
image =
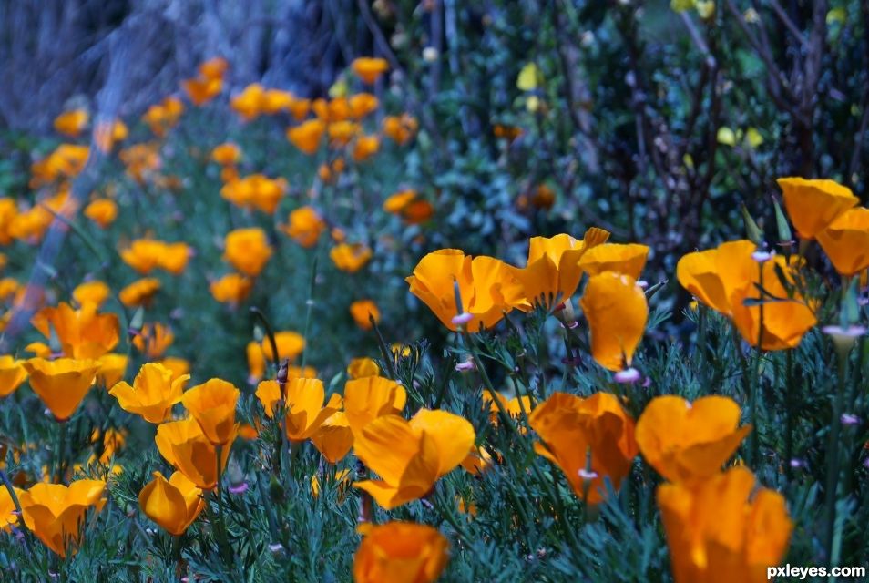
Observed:
[[[646,294],[629,275],[604,271],[592,276],[580,301],[591,333],[591,355],[610,371],[630,366],[649,306]]]

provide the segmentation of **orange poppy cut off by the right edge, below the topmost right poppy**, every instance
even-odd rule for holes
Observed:
[[[869,268],[869,209],[845,210],[816,237],[842,275],[856,275]]]

